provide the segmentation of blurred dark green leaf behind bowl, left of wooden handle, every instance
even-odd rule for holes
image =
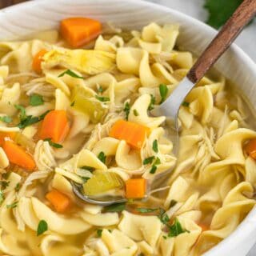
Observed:
[[[205,0],[204,7],[209,12],[207,24],[218,29],[230,18],[242,0]]]

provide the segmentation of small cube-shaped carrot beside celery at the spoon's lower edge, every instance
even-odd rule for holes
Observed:
[[[145,178],[130,178],[126,181],[126,198],[144,198],[146,194]]]

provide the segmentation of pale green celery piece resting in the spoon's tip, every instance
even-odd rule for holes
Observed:
[[[118,174],[104,172],[95,174],[84,183],[83,190],[86,195],[98,195],[109,190],[120,189],[122,186],[123,182]]]

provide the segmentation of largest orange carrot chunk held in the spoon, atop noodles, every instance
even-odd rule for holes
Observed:
[[[137,150],[141,149],[146,135],[149,133],[150,128],[125,120],[118,120],[110,129],[110,137],[125,140]]]

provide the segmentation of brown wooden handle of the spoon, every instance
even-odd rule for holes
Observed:
[[[256,0],[244,0],[235,10],[232,17],[222,27],[210,45],[187,74],[191,82],[198,82],[217,62],[218,58],[226,51],[234,39],[240,34],[243,27],[256,15]],[[231,65],[231,63],[230,63]]]

